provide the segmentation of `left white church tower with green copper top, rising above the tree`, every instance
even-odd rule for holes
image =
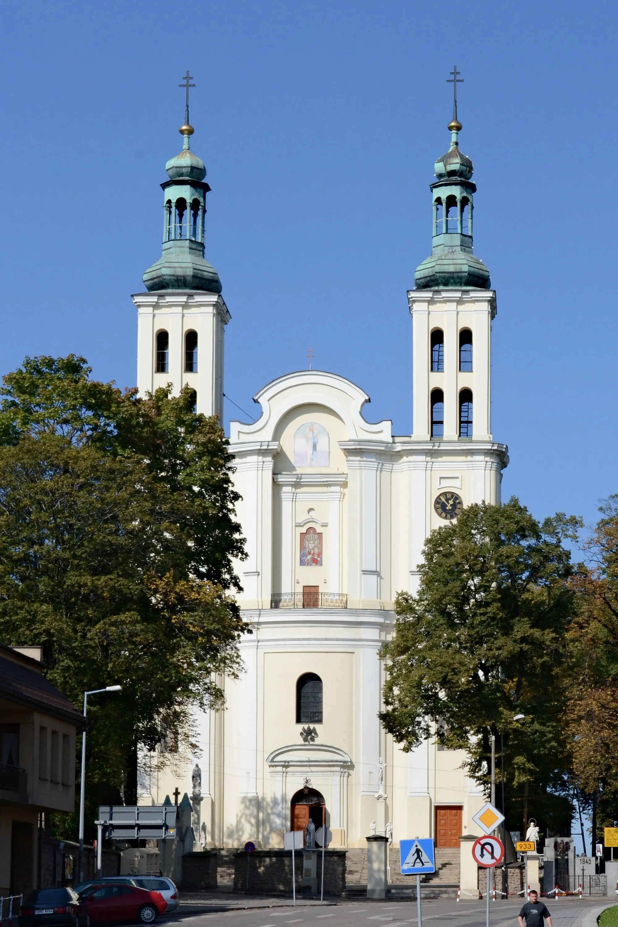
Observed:
[[[191,78],[187,78],[188,84]],[[193,84],[191,84],[193,86]],[[138,311],[137,386],[142,395],[172,384],[195,394],[195,410],[223,412],[223,333],[230,313],[221,298],[221,281],[204,258],[206,195],[204,161],[189,148],[194,129],[189,104],[183,150],[165,165],[163,248],[144,274],[147,293],[132,297]]]

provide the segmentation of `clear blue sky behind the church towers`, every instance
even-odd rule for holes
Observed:
[[[160,253],[190,68],[226,392],[257,414],[252,395],[310,345],[370,394],[368,418],[410,433],[406,290],[456,62],[475,251],[498,291],[504,496],[591,522],[618,491],[617,32],[618,6],[594,0],[5,4],[0,371],[75,351],[134,384],[130,294]]]

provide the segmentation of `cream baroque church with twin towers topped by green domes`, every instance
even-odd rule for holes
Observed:
[[[140,779],[143,804],[190,796],[196,844],[280,847],[311,820],[327,823],[334,847],[377,832],[458,848],[484,804],[461,751],[429,739],[403,753],[378,720],[397,592],[417,589],[432,529],[464,505],[500,501],[509,462],[491,435],[496,294],[473,254],[476,186],[460,130],[455,104],[430,184],[431,255],[408,291],[412,434],[366,421],[362,387],[320,370],[260,387],[258,421],[230,425],[248,553],[238,603],[253,629],[240,642],[244,672],[221,680],[224,710],[195,718],[197,760],[168,743],[143,757]],[[210,187],[188,107],[180,132],[161,184],[161,257],[132,297],[137,382],[142,393],[186,384],[197,412],[221,416],[231,316],[204,257]]]

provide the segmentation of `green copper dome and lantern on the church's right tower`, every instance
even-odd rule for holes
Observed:
[[[452,71],[451,71],[452,73]],[[452,83],[452,82],[451,82]],[[432,253],[414,273],[416,289],[489,289],[489,271],[473,254],[473,162],[460,151],[461,123],[456,104],[448,123],[450,147],[435,161],[430,184],[433,208]]]

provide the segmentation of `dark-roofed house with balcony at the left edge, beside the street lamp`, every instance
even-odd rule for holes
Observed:
[[[41,882],[45,814],[75,810],[83,717],[45,679],[40,647],[0,645],[0,895]]]

